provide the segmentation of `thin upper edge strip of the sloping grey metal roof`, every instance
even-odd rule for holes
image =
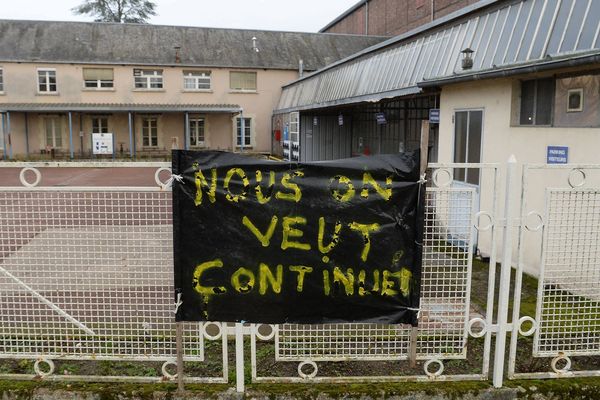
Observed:
[[[303,76],[302,78],[296,79],[295,81],[292,81],[292,82],[290,82],[290,83],[282,86],[282,88],[293,86],[293,85],[295,85],[298,82],[302,82],[302,81],[304,81],[306,79],[309,79],[309,78],[311,78],[311,77],[313,77],[315,75],[318,75],[318,74],[320,74],[320,73],[322,73],[324,71],[327,71],[327,70],[330,70],[332,68],[335,68],[338,65],[345,64],[345,63],[347,63],[349,61],[352,61],[352,60],[355,60],[357,58],[360,58],[360,57],[362,57],[362,56],[364,56],[366,54],[374,53],[374,52],[379,51],[379,50],[381,50],[381,49],[383,49],[385,47],[392,46],[392,45],[394,45],[394,44],[396,44],[398,42],[402,42],[402,41],[404,41],[406,39],[409,39],[409,38],[412,38],[414,36],[420,35],[420,34],[422,34],[424,32],[427,32],[429,30],[437,28],[437,27],[439,27],[441,25],[447,24],[448,22],[451,22],[453,20],[456,20],[456,19],[459,19],[461,17],[464,17],[467,14],[471,14],[471,13],[473,13],[475,11],[479,11],[479,10],[481,10],[483,8],[486,8],[488,6],[491,6],[491,5],[494,5],[496,3],[500,3],[500,2],[502,2],[502,0],[480,0],[477,3],[474,3],[474,4],[468,5],[466,7],[463,7],[460,10],[457,10],[457,11],[455,11],[453,13],[445,15],[445,16],[439,18],[439,19],[435,19],[432,22],[428,22],[426,24],[423,24],[420,27],[415,28],[415,29],[413,29],[411,31],[408,31],[408,32],[403,33],[403,34],[398,35],[398,36],[395,36],[395,37],[393,37],[391,39],[384,40],[383,42],[378,43],[376,45],[373,45],[371,47],[367,47],[366,49],[363,49],[363,50],[359,51],[358,53],[354,53],[353,55],[351,55],[349,57],[343,58],[343,59],[338,60],[338,61],[336,61],[334,63],[326,65],[325,67],[323,67],[323,68],[321,68],[319,70],[316,70],[315,72],[312,72],[312,73],[310,73],[308,75]],[[363,35],[363,36],[365,36],[365,35]]]

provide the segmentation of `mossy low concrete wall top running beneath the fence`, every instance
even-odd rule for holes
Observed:
[[[600,399],[600,378],[509,381],[501,390],[489,382],[428,382],[371,384],[252,384],[245,394],[230,385],[189,384],[179,395],[173,383],[108,384],[50,383],[40,381],[2,381],[0,398],[93,400],[169,400],[169,399]]]

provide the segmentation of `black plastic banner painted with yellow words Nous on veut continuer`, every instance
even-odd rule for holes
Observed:
[[[287,163],[173,151],[177,321],[416,325],[419,153]]]

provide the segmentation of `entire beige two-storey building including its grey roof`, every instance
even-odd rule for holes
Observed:
[[[270,153],[281,87],[383,40],[47,21],[0,29],[4,159]]]

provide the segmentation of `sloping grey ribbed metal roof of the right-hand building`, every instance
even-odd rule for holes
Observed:
[[[489,2],[488,2],[489,4]],[[284,87],[278,109],[318,108],[418,91],[420,82],[596,54],[600,0],[522,0],[485,7],[438,29],[412,32]],[[386,46],[386,47],[384,47]],[[461,53],[475,50],[471,70]]]

